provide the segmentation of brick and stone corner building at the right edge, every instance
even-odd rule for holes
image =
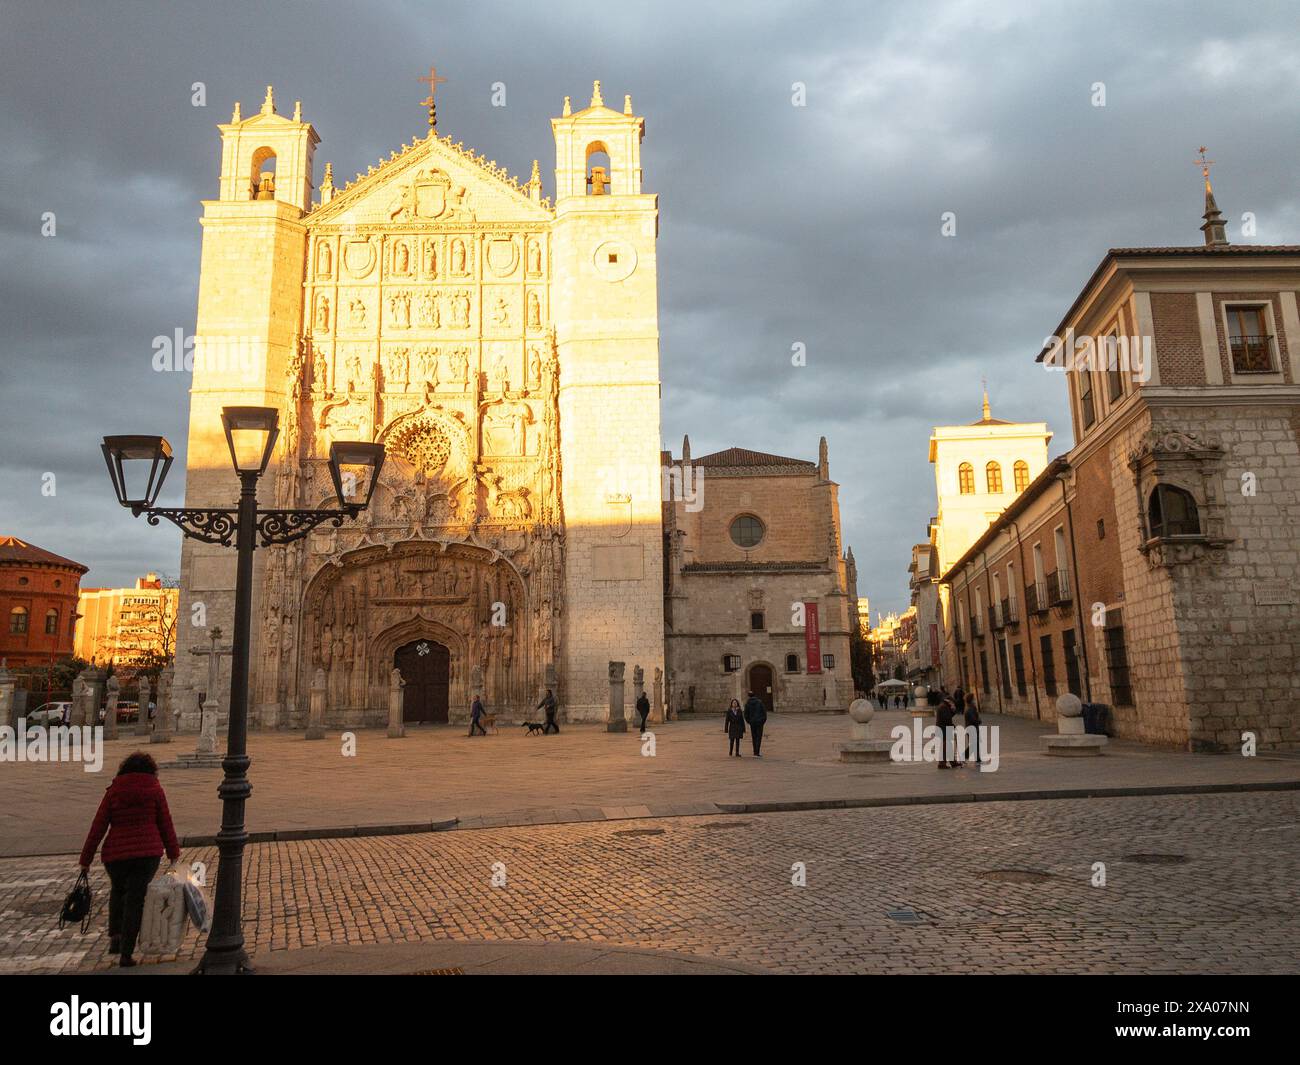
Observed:
[[[1300,247],[1113,248],[1039,362],[1075,446],[944,575],[949,667],[1121,736],[1300,745]]]

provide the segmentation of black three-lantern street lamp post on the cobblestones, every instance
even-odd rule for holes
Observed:
[[[117,502],[151,525],[166,519],[182,533],[205,544],[231,546],[237,551],[234,640],[230,655],[230,720],[226,732],[225,776],[217,788],[221,798],[221,831],[217,832],[216,899],[212,931],[195,973],[248,973],[242,927],[243,850],[248,841],[244,804],[248,783],[248,644],[252,627],[252,553],[257,546],[289,544],[330,521],[356,518],[374,493],[384,467],[384,445],[335,441],[329,450],[329,469],[338,497],[337,510],[259,510],[257,480],[270,462],[280,436],[280,412],[274,407],[225,407],[221,424],[230,459],[239,476],[239,505],[221,507],[155,507],[168,468],[172,446],[162,437],[104,437],[104,462]]]

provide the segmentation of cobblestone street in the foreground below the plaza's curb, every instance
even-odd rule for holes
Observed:
[[[246,861],[255,954],[568,941],[785,973],[1294,973],[1300,957],[1295,792],[486,828],[257,844]],[[72,866],[0,861],[0,973],[110,964],[101,867],[96,931],[56,930]],[[191,931],[182,956],[198,951]]]

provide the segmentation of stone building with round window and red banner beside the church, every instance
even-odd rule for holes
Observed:
[[[770,709],[853,698],[853,564],[826,440],[818,462],[729,447],[664,453],[667,697],[723,713],[753,690]]]

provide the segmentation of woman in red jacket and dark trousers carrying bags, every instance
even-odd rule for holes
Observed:
[[[95,849],[104,839],[104,869],[112,891],[108,896],[109,949],[122,965],[135,965],[131,953],[144,915],[144,892],[157,873],[162,853],[176,863],[181,847],[176,840],[166,795],[159,783],[157,763],[144,752],[127,756],[104,792],[82,847],[81,867],[90,870]]]

